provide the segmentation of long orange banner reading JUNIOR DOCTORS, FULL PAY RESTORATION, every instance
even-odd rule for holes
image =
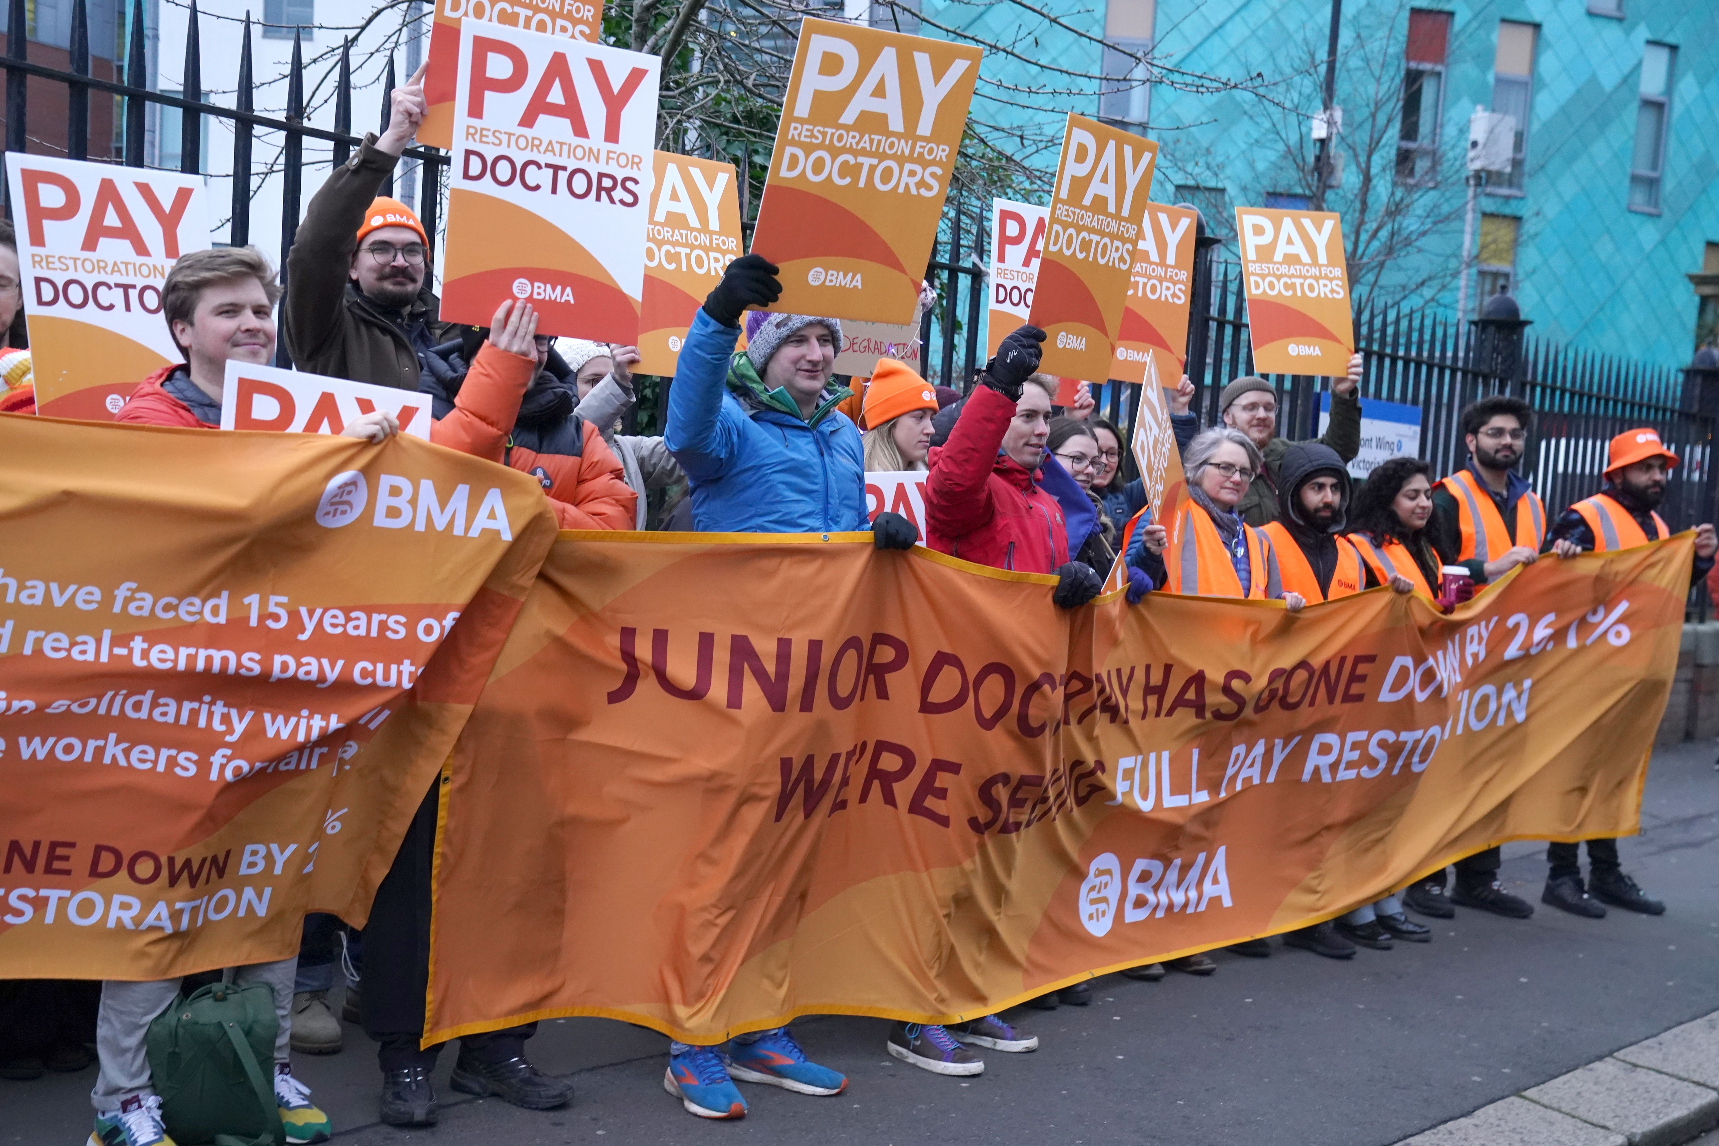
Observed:
[[[1633,832],[1690,560],[1061,612],[866,534],[564,533],[449,759],[426,1041],[983,1015]]]

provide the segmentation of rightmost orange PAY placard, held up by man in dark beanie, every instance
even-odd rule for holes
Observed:
[[[1236,208],[1248,337],[1260,375],[1336,378],[1355,354],[1343,220],[1332,211]]]

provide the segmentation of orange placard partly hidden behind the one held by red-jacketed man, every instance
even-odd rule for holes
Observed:
[[[1128,278],[1123,338],[1116,344],[1110,378],[1143,381],[1147,359],[1159,378],[1181,378],[1188,357],[1188,302],[1193,297],[1193,239],[1198,211],[1147,204],[1140,249]]]

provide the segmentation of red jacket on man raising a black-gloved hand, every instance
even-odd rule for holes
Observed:
[[[1062,507],[1035,474],[999,454],[1014,402],[976,387],[949,442],[932,450],[925,481],[925,543],[994,569],[1055,572],[1069,560]]]

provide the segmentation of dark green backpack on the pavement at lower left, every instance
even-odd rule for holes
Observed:
[[[285,1146],[275,1103],[275,993],[210,983],[150,1024],[162,1122],[182,1146]]]

